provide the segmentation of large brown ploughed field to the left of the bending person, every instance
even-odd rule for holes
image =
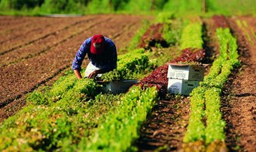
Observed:
[[[125,47],[145,17],[0,18],[0,106],[3,108],[12,102],[23,104],[24,94],[71,68],[74,55],[86,38],[104,34],[116,42],[118,49]],[[14,104],[15,108],[18,105]]]

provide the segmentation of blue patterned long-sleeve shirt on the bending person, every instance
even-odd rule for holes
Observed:
[[[95,55],[90,53],[91,38],[87,38],[80,46],[72,62],[72,70],[81,70],[82,61],[86,54],[88,54],[90,62],[99,69],[110,71],[117,68],[118,55],[114,42],[110,38],[105,38],[105,49],[102,54]]]

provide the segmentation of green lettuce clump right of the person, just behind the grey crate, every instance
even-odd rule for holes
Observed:
[[[106,74],[102,74],[103,81],[118,81],[122,79],[134,79],[134,74],[140,74],[153,67],[144,49],[131,51],[118,56],[118,68]]]

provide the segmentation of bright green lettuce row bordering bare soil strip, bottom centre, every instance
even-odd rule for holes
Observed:
[[[146,120],[157,96],[155,87],[146,90],[141,90],[139,86],[130,88],[121,99],[118,109],[106,115],[105,121],[94,131],[90,141],[82,140],[79,143],[79,150],[126,151],[134,139],[138,138],[138,129]]]

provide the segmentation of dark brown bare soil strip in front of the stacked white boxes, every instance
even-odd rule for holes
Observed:
[[[150,118],[142,126],[135,142],[139,151],[178,151],[189,120],[189,98],[174,97],[159,101]]]

